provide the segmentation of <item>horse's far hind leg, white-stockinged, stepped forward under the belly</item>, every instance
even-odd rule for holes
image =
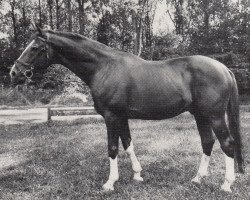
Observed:
[[[211,123],[208,118],[201,115],[195,115],[197,128],[201,137],[201,145],[203,154],[201,157],[201,163],[196,176],[192,179],[192,182],[200,183],[204,176],[208,175],[208,165],[211,156],[211,152],[214,145],[214,136],[211,127]]]

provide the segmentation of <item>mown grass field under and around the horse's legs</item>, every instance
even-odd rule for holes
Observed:
[[[242,111],[246,154],[250,113]],[[108,178],[107,136],[102,120],[0,127],[0,199],[249,199],[250,167],[237,177],[233,194],[220,191],[224,157],[216,142],[210,176],[190,182],[201,156],[200,138],[189,114],[164,121],[130,121],[143,183],[132,180],[131,163],[120,147],[120,180],[103,193]],[[121,146],[121,145],[120,145]]]

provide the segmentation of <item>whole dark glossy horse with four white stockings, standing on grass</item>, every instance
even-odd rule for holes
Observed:
[[[238,89],[233,73],[222,63],[204,56],[146,61],[79,34],[37,27],[31,43],[11,69],[12,82],[22,84],[38,69],[42,71],[51,64],[64,65],[89,86],[95,109],[105,119],[110,158],[105,190],[113,190],[119,178],[119,138],[131,158],[134,179],[143,180],[128,119],[160,120],[185,111],[194,115],[203,149],[198,173],[192,181],[200,183],[208,173],[214,135],[225,153],[222,190],[231,191],[234,158],[243,173]]]

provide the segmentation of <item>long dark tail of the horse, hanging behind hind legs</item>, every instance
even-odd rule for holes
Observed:
[[[231,72],[233,85],[231,89],[231,95],[229,99],[227,114],[228,114],[228,122],[230,133],[235,142],[234,148],[234,158],[238,164],[239,173],[245,172],[244,165],[244,155],[243,155],[243,144],[242,144],[242,136],[240,131],[240,112],[239,112],[239,95],[238,95],[238,87],[235,80],[234,74]]]

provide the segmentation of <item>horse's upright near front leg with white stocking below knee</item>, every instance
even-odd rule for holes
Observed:
[[[110,173],[108,181],[103,185],[106,191],[114,190],[114,183],[119,179],[118,173],[118,145],[119,132],[121,131],[121,119],[113,112],[106,111],[105,123],[108,134],[108,155],[110,160]]]

